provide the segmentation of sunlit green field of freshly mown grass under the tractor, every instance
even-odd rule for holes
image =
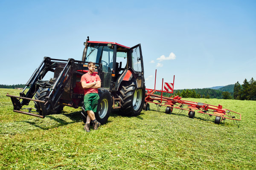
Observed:
[[[204,115],[165,114],[154,104],[137,117],[112,113],[106,125],[86,133],[80,109],[36,118],[14,113],[0,89],[0,169],[256,169],[256,101],[187,99],[242,114],[239,127],[206,121]],[[33,104],[31,102],[31,107]]]

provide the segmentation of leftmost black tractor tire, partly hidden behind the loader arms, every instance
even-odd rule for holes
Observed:
[[[38,91],[35,94],[35,99],[37,100],[42,100],[45,101],[46,97],[49,95],[49,90],[48,88],[38,88]],[[63,111],[64,106],[62,105],[58,105],[56,108],[52,109],[48,109],[45,107],[45,105],[41,102],[35,102],[35,109],[36,111],[39,112],[40,115],[49,115],[49,114],[59,114],[61,113],[61,111]]]

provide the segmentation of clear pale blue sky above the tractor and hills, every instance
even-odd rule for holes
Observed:
[[[25,84],[45,56],[81,60],[91,41],[141,44],[146,88],[256,79],[255,0],[0,0],[0,84]]]

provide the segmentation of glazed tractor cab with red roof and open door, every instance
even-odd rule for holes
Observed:
[[[128,74],[135,78],[143,76],[140,44],[132,48],[116,42],[87,41],[84,44],[86,50],[82,60],[101,64],[96,71],[102,80],[102,88],[117,90],[128,70]]]

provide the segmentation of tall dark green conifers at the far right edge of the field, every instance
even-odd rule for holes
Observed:
[[[244,79],[243,84],[236,82],[234,86],[234,99],[237,100],[256,100],[256,81],[253,77],[248,82]]]

